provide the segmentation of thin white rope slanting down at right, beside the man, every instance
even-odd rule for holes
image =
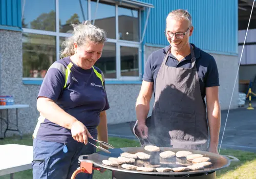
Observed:
[[[252,4],[252,7],[251,7],[251,14],[252,14],[253,6],[254,6],[254,1],[253,1],[253,4]],[[244,38],[244,44],[245,44],[245,41],[246,41],[247,32],[248,32],[249,25],[250,25],[251,14],[250,14],[249,23],[248,23],[246,34],[245,34],[245,38]],[[230,106],[231,106],[231,102],[232,102],[232,98],[233,98],[233,94],[234,94],[234,88],[236,87],[236,81],[237,81],[238,73],[239,73],[239,66],[240,66],[242,55],[243,55],[243,51],[244,51],[244,44],[243,44],[243,49],[242,49],[241,56],[240,56],[239,65],[238,65],[237,76],[236,76],[236,79],[234,80],[234,87],[233,87],[233,91],[232,91],[232,95],[231,95],[231,99],[230,99],[230,103],[229,103],[229,107],[228,107],[228,111],[227,111],[227,118],[228,118],[228,114],[229,114],[229,110],[230,110]],[[225,132],[226,124],[227,124],[227,118],[226,118],[224,130],[223,130],[223,134],[222,134],[222,138],[221,138],[221,144],[222,144],[223,137],[224,137],[224,132]],[[219,148],[219,153],[220,153],[220,150],[221,150],[221,144],[220,144],[220,148]]]

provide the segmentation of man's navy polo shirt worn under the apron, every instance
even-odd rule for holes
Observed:
[[[219,73],[216,61],[213,56],[200,50],[191,43],[194,47],[196,66],[199,76],[201,96],[204,101],[205,98],[205,88],[211,86],[219,86]],[[164,56],[170,46],[159,49],[153,52],[147,59],[143,80],[147,82],[154,82],[154,94],[156,90],[155,81],[157,78],[158,71],[163,62]],[[169,54],[167,61],[167,66],[172,66],[176,68],[191,68],[191,54],[186,56],[181,61],[178,61],[171,53]]]

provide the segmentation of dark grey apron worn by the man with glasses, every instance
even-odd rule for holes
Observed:
[[[142,146],[148,142],[159,147],[207,150],[208,123],[200,91],[195,53],[190,45],[191,68],[167,66],[170,48],[156,78],[152,116],[146,119],[148,141],[133,132]]]

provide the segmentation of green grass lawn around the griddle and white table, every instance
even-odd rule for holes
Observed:
[[[140,146],[137,141],[122,139],[122,138],[109,138],[109,143],[113,144],[115,148],[121,147],[136,147]],[[3,144],[22,144],[31,145],[31,136],[24,136],[23,140],[19,140],[18,137],[6,138],[0,140],[0,145]],[[223,170],[217,171],[217,178],[220,179],[250,179],[255,178],[254,173],[256,171],[256,153],[246,152],[240,150],[221,150],[220,154],[236,156],[240,160],[238,163],[231,163],[231,165]],[[1,161],[1,160],[0,160]],[[1,161],[2,162],[2,161]],[[0,176],[0,179],[9,179],[10,175]],[[14,174],[15,179],[30,179],[32,178],[32,170],[26,170],[17,172]],[[94,179],[108,179],[111,178],[111,171],[106,170],[104,173],[95,171]]]

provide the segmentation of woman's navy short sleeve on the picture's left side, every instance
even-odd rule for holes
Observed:
[[[61,70],[51,67],[42,81],[37,98],[46,97],[56,102],[65,85],[65,75]]]

